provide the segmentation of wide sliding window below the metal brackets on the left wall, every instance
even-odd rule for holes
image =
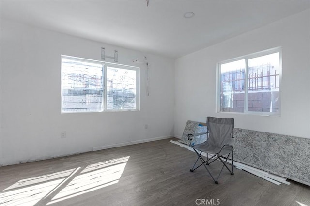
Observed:
[[[62,113],[139,110],[139,71],[62,56]]]

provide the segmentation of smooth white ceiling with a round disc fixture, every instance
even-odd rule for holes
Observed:
[[[310,8],[297,0],[4,1],[1,19],[178,58]],[[194,12],[190,19],[185,12]],[[298,23],[298,22],[296,22]]]

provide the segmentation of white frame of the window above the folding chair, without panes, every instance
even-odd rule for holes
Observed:
[[[256,112],[256,111],[248,111],[248,60],[262,57],[265,55],[278,53],[279,52],[279,112]],[[233,61],[238,61],[245,59],[245,88],[244,88],[244,111],[243,112],[227,112],[221,111],[221,65],[225,63],[230,63]],[[244,55],[241,57],[228,59],[224,61],[220,61],[216,65],[216,113],[226,113],[226,114],[250,114],[250,115],[260,115],[260,116],[281,116],[281,88],[282,88],[282,47],[275,47],[259,52],[255,52],[252,54]]]

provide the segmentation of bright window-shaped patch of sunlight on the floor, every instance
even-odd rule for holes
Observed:
[[[1,206],[47,205],[119,182],[129,156],[38,177],[21,179],[0,194]]]

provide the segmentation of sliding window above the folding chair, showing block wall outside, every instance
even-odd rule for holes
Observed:
[[[280,77],[280,48],[218,63],[218,112],[279,115]]]

